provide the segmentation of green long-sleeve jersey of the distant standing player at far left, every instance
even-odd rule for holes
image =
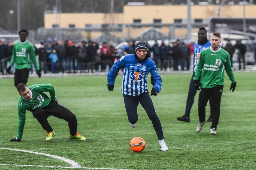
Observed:
[[[13,65],[15,62],[16,69],[30,68],[31,61],[34,63],[35,69],[39,70],[34,47],[31,42],[29,42],[28,40],[26,40],[25,42],[15,42],[12,50],[10,65]]]

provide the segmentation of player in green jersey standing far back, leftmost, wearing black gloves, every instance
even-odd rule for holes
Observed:
[[[35,65],[38,77],[41,77],[38,63],[36,61],[34,47],[26,40],[28,32],[26,30],[19,31],[20,40],[14,43],[11,62],[7,68],[7,73],[10,73],[11,66],[15,63],[14,85],[17,87],[19,83],[26,84],[29,78],[29,70],[31,61]]]

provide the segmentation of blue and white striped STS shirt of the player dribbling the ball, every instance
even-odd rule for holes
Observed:
[[[156,65],[153,60],[147,59],[145,62],[137,60],[134,54],[126,54],[112,66],[108,72],[108,84],[114,85],[118,71],[123,68],[122,91],[129,96],[138,96],[148,91],[148,73],[154,78],[154,88],[160,92],[162,79],[158,75]]]

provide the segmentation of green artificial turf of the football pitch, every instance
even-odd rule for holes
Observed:
[[[197,101],[191,122],[180,122],[184,114],[192,73],[160,74],[162,90],[152,100],[160,118],[168,151],[160,151],[157,135],[147,114],[139,105],[139,120],[131,128],[124,108],[121,75],[114,91],[107,89],[106,76],[30,77],[27,85],[53,84],[60,105],[78,119],[78,132],[87,140],[69,139],[68,123],[56,117],[48,121],[56,136],[45,141],[46,131],[27,111],[22,142],[9,142],[17,135],[19,94],[13,78],[0,79],[0,148],[22,149],[64,157],[82,168],[138,170],[253,170],[256,167],[256,72],[235,72],[236,90],[229,91],[226,76],[221,99],[217,135],[209,133],[211,123],[200,133]],[[149,91],[152,85],[148,85]],[[209,105],[206,106],[206,117]],[[135,153],[129,143],[133,137],[146,142],[144,151]],[[14,166],[23,165],[23,166]],[[33,165],[33,166],[24,166]],[[38,166],[38,167],[36,167]],[[43,167],[40,167],[43,166]],[[53,166],[53,167],[47,167]],[[59,168],[55,166],[60,166]],[[69,163],[44,155],[0,149],[0,169],[67,169]],[[62,167],[62,168],[61,168]],[[81,169],[82,169],[81,168]]]

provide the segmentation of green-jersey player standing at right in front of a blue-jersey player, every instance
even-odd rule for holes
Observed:
[[[198,116],[199,124],[197,132],[200,132],[206,123],[205,107],[212,96],[212,126],[211,134],[217,134],[216,129],[220,117],[221,95],[224,85],[224,70],[231,80],[230,90],[232,92],[236,88],[236,79],[231,67],[230,56],[227,51],[222,49],[221,34],[213,33],[211,38],[211,47],[206,48],[200,54],[197,69],[194,76],[195,88],[199,91],[198,99]],[[199,88],[201,86],[201,89]]]

